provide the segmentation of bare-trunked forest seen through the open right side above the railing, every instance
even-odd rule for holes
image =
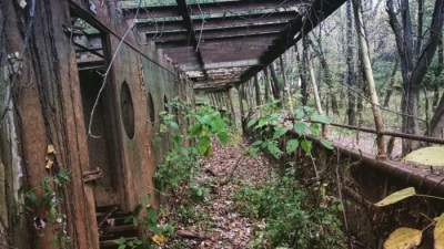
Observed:
[[[314,92],[319,92],[323,111],[336,123],[374,126],[365,53],[361,51],[356,32],[362,28],[382,128],[442,137],[443,1],[367,0],[356,3],[349,0],[249,84],[241,86],[242,91],[254,95],[258,84],[261,96],[255,103],[295,94],[294,104],[312,106],[316,106]],[[362,17],[361,22],[356,11]],[[356,27],[356,23],[362,24]],[[319,90],[314,90],[313,82]],[[420,146],[404,141],[403,154]]]

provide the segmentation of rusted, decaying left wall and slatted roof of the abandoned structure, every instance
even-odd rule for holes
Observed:
[[[23,215],[22,204],[27,189],[48,194],[39,186],[61,169],[62,232],[70,248],[99,248],[100,208],[129,211],[152,194],[168,101],[245,82],[342,2],[1,1],[0,248],[56,247],[47,210]]]

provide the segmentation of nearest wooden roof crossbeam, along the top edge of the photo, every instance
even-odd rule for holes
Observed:
[[[264,10],[285,10],[296,8],[301,4],[301,0],[292,1],[276,1],[276,0],[255,0],[255,1],[224,1],[224,2],[210,2],[189,4],[190,14],[233,14],[239,12],[259,12]],[[178,4],[179,6],[179,4]],[[132,8],[122,8],[123,17],[125,19],[133,19],[137,12],[137,6]],[[153,18],[178,18],[175,6],[158,6],[144,7],[139,11],[138,18],[153,19]]]

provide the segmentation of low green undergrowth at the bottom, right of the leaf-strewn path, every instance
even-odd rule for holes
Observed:
[[[345,248],[341,230],[340,204],[329,197],[319,205],[303,190],[291,173],[260,187],[243,186],[234,194],[236,209],[244,216],[264,219],[252,248]]]

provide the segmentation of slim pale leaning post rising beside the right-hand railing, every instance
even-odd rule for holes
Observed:
[[[369,45],[366,42],[365,38],[365,29],[364,29],[364,22],[361,17],[361,10],[360,10],[360,1],[359,0],[353,0],[353,12],[354,12],[354,20],[355,20],[355,27],[356,27],[356,33],[357,33],[357,41],[359,45],[361,48],[361,58],[362,58],[362,63],[364,68],[364,74],[365,74],[365,80],[367,82],[369,86],[369,92],[372,101],[372,111],[373,111],[373,117],[375,122],[375,128],[377,132],[376,135],[376,145],[377,145],[377,158],[386,158],[386,153],[385,153],[385,143],[384,143],[384,123],[382,120],[381,115],[381,110],[380,110],[380,101],[377,98],[377,92],[373,79],[373,69],[372,69],[372,63],[370,61],[370,55],[369,55]]]

